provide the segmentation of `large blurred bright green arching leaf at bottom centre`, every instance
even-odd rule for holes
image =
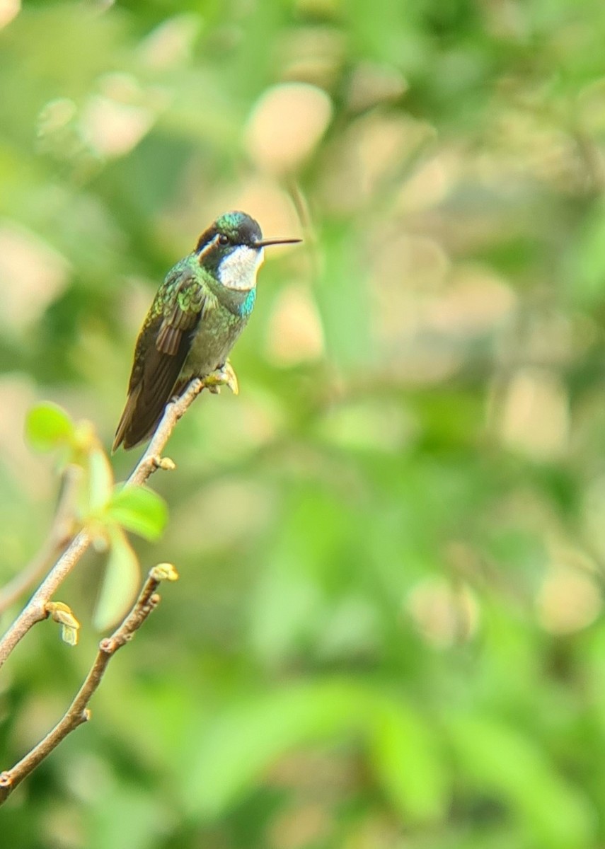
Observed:
[[[406,821],[443,814],[446,775],[427,722],[382,689],[342,678],[275,689],[222,712],[190,749],[185,800],[202,819],[222,816],[288,751],[342,738],[367,741],[377,779]]]

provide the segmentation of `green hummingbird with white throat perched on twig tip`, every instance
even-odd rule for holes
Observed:
[[[257,222],[239,211],[225,212],[201,233],[167,273],[144,319],[113,451],[149,439],[190,380],[236,385],[227,357],[254,308],[264,249],[300,241],[263,239]]]

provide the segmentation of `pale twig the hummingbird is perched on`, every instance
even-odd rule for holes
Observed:
[[[127,486],[141,486],[150,478],[150,475],[153,475],[156,469],[172,468],[170,462],[167,462],[166,459],[162,460],[161,452],[164,450],[178,419],[184,415],[185,411],[195,401],[195,398],[200,394],[202,389],[204,389],[204,386],[203,381],[192,380],[183,395],[177,401],[167,405],[149,447],[147,447],[143,457],[140,458],[139,463],[134,467],[132,474],[126,481]],[[25,608],[0,640],[0,667],[3,666],[8,655],[10,655],[20,640],[25,637],[25,634],[30,628],[37,622],[46,619],[48,616],[48,610],[46,609],[48,601],[53,598],[54,593],[56,593],[61,583],[65,581],[65,578],[70,574],[76,563],[82,558],[82,554],[84,554],[91,542],[92,537],[89,531],[84,528],[74,537],[51,571],[48,572],[48,576],[40,587],[37,588],[37,591],[25,605]]]

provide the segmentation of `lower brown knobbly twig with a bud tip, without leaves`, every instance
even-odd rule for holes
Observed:
[[[57,722],[52,731],[49,731],[46,737],[28,752],[20,762],[16,763],[11,769],[0,773],[0,805],[8,799],[14,788],[59,745],[61,740],[65,739],[67,734],[82,725],[82,722],[88,722],[88,719],[90,719],[88,702],[91,700],[94,691],[99,687],[111,658],[118,649],[122,648],[122,645],[133,638],[134,632],[141,627],[145,619],[157,607],[160,596],[155,590],[160,582],[163,580],[175,581],[177,577],[177,571],[170,564],[161,564],[150,570],[149,577],[144,582],[133,609],[116,631],[99,643],[99,652],[93,666],[90,667],[82,687],[76,694],[76,698],[71,702],[71,706],[65,711],[65,715]]]

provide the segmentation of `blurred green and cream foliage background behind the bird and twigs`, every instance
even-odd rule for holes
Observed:
[[[262,269],[240,396],[198,400],[153,480],[170,523],[133,544],[180,581],[3,845],[605,845],[602,0],[3,0],[0,24],[3,582],[57,492],[31,405],[109,446],[207,223],[305,239]],[[60,593],[81,644],[47,622],[3,670],[3,767],[92,660],[103,564]]]

